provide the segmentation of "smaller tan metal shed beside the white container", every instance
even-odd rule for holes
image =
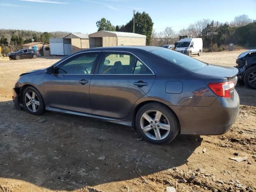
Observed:
[[[70,33],[63,37],[64,44],[71,44],[72,53],[89,48],[89,37],[87,34]]]

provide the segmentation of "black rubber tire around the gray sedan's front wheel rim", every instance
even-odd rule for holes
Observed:
[[[39,107],[37,108],[37,110],[35,112],[31,111],[28,108],[28,106],[26,106],[25,96],[26,96],[26,93],[30,93],[30,92],[36,93],[36,96],[37,96],[38,101],[40,103]],[[38,90],[36,88],[32,87],[32,86],[29,86],[29,87],[25,88],[25,90],[23,91],[22,102],[23,102],[25,110],[27,112],[29,112],[30,114],[32,114],[32,115],[40,115],[40,114],[42,114],[44,112],[44,100],[42,99],[42,96],[38,92]]]

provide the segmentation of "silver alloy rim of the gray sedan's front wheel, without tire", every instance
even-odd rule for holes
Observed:
[[[25,94],[25,104],[31,112],[37,112],[40,106],[39,98],[33,91],[28,91]]]

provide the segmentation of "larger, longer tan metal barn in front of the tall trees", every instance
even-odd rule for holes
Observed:
[[[109,46],[146,46],[146,36],[136,33],[99,31],[89,34],[90,48]]]

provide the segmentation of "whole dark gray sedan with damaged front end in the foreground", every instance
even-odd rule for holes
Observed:
[[[150,142],[176,135],[224,134],[236,121],[238,70],[166,48],[108,47],[76,52],[20,75],[16,108],[100,118],[136,126]]]

